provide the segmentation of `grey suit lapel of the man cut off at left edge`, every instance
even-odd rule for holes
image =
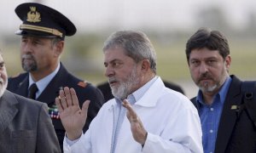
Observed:
[[[18,101],[6,90],[1,98],[0,107],[0,133],[3,133],[18,112]]]

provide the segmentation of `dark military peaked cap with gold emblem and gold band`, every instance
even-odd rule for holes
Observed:
[[[23,23],[17,35],[33,37],[73,36],[77,29],[66,16],[40,3],[22,3],[15,8],[15,13]]]

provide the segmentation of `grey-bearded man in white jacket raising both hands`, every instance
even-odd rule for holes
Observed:
[[[156,54],[140,31],[116,31],[103,47],[105,76],[114,99],[83,133],[89,100],[79,107],[75,90],[55,102],[66,129],[64,150],[73,153],[202,153],[195,106],[156,76]],[[125,114],[127,117],[125,117]]]

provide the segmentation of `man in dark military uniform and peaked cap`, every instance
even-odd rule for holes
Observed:
[[[26,72],[10,77],[8,89],[49,106],[49,116],[62,149],[65,129],[55,105],[59,90],[63,87],[75,88],[79,101],[90,99],[84,132],[104,103],[103,95],[90,82],[74,77],[61,63],[65,37],[76,32],[76,27],[66,16],[39,3],[22,3],[15,8],[15,13],[22,20],[20,31],[16,34],[21,36],[20,59]]]

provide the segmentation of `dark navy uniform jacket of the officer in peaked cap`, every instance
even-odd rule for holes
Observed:
[[[11,77],[9,78],[8,89],[15,94],[20,94],[26,97],[28,94],[28,82],[28,73],[20,74],[18,77]],[[58,73],[49,82],[48,86],[44,89],[43,93],[39,95],[37,100],[46,103],[49,108],[54,109],[55,98],[58,97],[60,88],[64,87],[75,89],[79,98],[80,106],[82,106],[86,99],[90,99],[88,116],[84,126],[85,132],[88,129],[90,122],[96,116],[97,112],[104,103],[102,92],[98,88],[92,86],[89,82],[84,82],[79,78],[74,77],[64,68],[63,65],[61,65]],[[51,112],[49,112],[49,115],[51,115]],[[55,116],[51,117],[62,150],[65,129],[61,124],[60,118]]]

